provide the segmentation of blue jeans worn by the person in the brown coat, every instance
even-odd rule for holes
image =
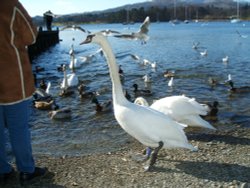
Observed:
[[[11,171],[6,155],[5,128],[9,131],[11,148],[16,159],[17,170],[34,172],[29,130],[30,100],[17,104],[0,105],[0,174]]]

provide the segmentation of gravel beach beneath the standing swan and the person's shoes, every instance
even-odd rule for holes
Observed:
[[[250,187],[249,128],[234,125],[209,133],[186,132],[199,150],[162,149],[150,172],[144,172],[145,164],[135,160],[144,147],[131,137],[112,153],[36,156],[37,165],[48,167],[49,172],[22,187]],[[17,173],[2,187],[21,187]]]

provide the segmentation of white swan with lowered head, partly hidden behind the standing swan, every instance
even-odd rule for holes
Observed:
[[[142,97],[136,98],[134,103],[149,106],[146,99]],[[150,108],[169,115],[179,123],[216,130],[210,123],[200,117],[200,115],[207,115],[208,108],[198,103],[194,98],[184,95],[164,97],[156,100]]]

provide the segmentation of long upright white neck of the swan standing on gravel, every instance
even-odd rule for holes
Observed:
[[[102,40],[100,41],[100,45],[104,51],[104,55],[107,59],[107,63],[109,66],[109,73],[110,73],[110,78],[112,81],[113,102],[115,104],[124,103],[127,100],[123,94],[122,84],[121,84],[119,73],[118,73],[119,68],[116,64],[116,59],[115,59],[114,53],[112,51],[112,48],[111,48],[106,37],[104,37],[104,36],[102,37]]]

